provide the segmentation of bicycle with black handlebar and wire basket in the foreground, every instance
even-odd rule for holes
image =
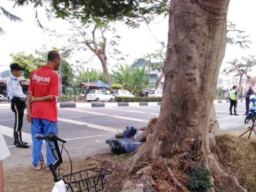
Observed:
[[[68,152],[71,172],[70,174],[61,176],[59,169],[58,173],[56,172],[56,169],[59,168],[60,164],[63,162],[61,154],[64,148],[64,143],[67,143],[67,141],[58,138],[58,135],[53,132],[50,132],[47,136],[36,134],[35,138],[46,140],[55,158],[55,162],[49,165],[55,182],[52,192],[99,192],[104,190],[104,184],[109,183],[105,176],[111,174],[112,171],[105,168],[94,167],[73,173],[72,161]],[[58,146],[58,141],[62,143],[61,151]],[[64,148],[64,150],[67,151],[66,148]]]

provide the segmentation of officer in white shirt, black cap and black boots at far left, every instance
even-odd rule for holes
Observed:
[[[12,75],[7,81],[8,96],[11,99],[11,108],[15,113],[14,125],[14,145],[20,148],[29,148],[28,143],[22,141],[21,128],[23,125],[24,110],[26,108],[26,95],[23,94],[20,80],[18,77],[21,75],[21,68],[19,64],[13,63],[10,65]]]

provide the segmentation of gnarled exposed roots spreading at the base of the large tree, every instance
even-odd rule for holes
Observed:
[[[175,157],[171,157],[172,159],[168,159],[179,162],[179,165],[175,163],[166,163],[168,160],[158,157],[157,150],[159,150],[158,146],[161,141],[159,137],[156,137],[155,135],[156,130],[154,130],[154,128],[157,127],[157,121],[155,120],[156,119],[153,119],[148,125],[147,143],[140,146],[133,157],[129,158],[124,163],[119,164],[118,167],[127,169],[129,172],[136,172],[145,166],[152,166],[154,171],[149,171],[147,173],[149,175],[146,178],[148,178],[153,186],[152,191],[157,192],[165,192],[167,189],[172,189],[171,191],[188,191],[185,186],[188,177],[184,177],[184,175],[188,173],[188,170],[195,166],[204,167],[212,172],[211,182],[214,183],[215,186],[209,188],[207,192],[217,192],[219,191],[219,186],[224,187],[224,191],[226,192],[247,191],[239,185],[236,177],[226,174],[220,168],[218,162],[210,151],[209,142],[204,143],[200,138],[194,140],[191,148],[188,148],[187,151],[182,154],[177,154]],[[214,129],[214,127],[212,128]],[[204,139],[207,141],[207,138]],[[157,145],[155,143],[157,143]],[[162,164],[160,165],[159,162],[162,162]],[[156,167],[158,171],[156,171]],[[183,172],[183,179],[180,180],[180,176],[176,177],[175,174],[172,174],[173,170]],[[145,174],[143,177],[145,177]]]

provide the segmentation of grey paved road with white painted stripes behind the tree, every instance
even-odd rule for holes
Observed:
[[[216,104],[216,117],[221,131],[244,128],[244,109],[244,103],[239,103],[239,116],[231,116],[228,103]],[[105,144],[108,137],[126,126],[146,126],[149,119],[158,116],[159,111],[160,106],[61,108],[58,116],[58,135],[68,140],[66,147],[71,157],[104,153],[110,151]],[[0,128],[12,154],[4,160],[4,166],[30,165],[31,147],[22,149],[13,146],[14,113],[11,110],[0,110],[0,114]],[[22,131],[24,140],[31,143],[30,124],[24,121]]]

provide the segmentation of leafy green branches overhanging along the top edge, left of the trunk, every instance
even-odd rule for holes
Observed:
[[[10,0],[18,6],[33,3],[35,7],[49,2],[57,17],[74,17],[82,22],[121,20],[132,27],[149,22],[169,10],[170,0]]]

